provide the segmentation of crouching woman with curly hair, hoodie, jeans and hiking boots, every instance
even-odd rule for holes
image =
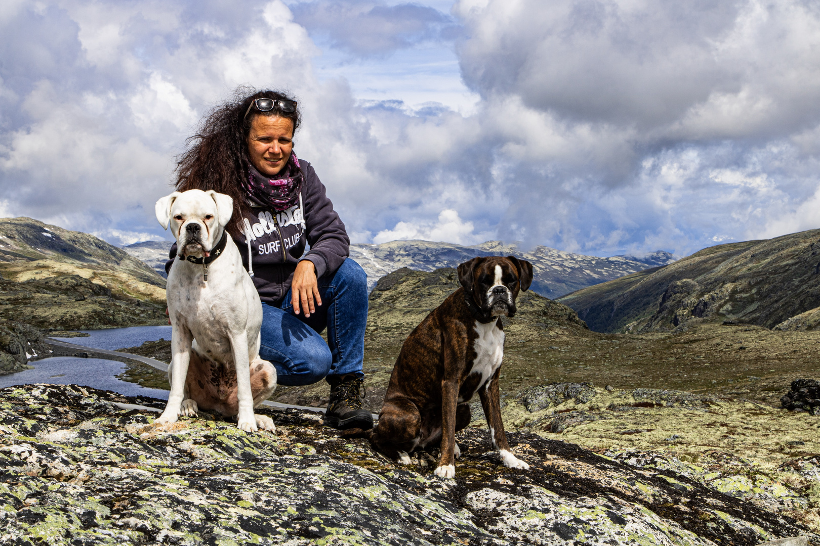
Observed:
[[[259,354],[276,366],[279,384],[325,378],[325,424],[371,428],[360,394],[367,275],[348,258],[350,241],[325,186],[294,153],[301,121],[294,98],[244,91],[203,120],[180,156],[176,189],[233,197],[227,230],[262,300]],[[325,328],[327,343],[319,335]]]

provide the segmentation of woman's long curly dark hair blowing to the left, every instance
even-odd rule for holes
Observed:
[[[291,120],[294,133],[302,121],[298,110],[287,113],[274,108],[261,112],[251,108],[248,117],[245,112],[257,98],[271,98],[274,101],[295,98],[283,91],[257,91],[250,87],[239,87],[234,97],[215,106],[203,117],[193,137],[185,141],[185,151],[176,161],[176,191],[214,190],[234,199],[234,214],[227,229],[231,235],[243,232],[240,219],[250,210],[245,200],[241,180],[248,172],[248,132],[257,115],[277,115]]]

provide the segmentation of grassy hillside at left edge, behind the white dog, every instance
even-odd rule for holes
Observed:
[[[0,372],[48,355],[41,332],[165,324],[165,279],[87,233],[0,219]]]

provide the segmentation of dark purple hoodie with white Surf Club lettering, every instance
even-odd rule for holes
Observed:
[[[282,212],[272,208],[253,208],[244,218],[244,230],[250,235],[253,256],[253,284],[259,298],[268,305],[279,306],[290,288],[296,264],[309,259],[317,278],[335,273],[349,255],[350,239],[344,223],[326,196],[325,185],[312,165],[299,159],[304,174],[301,199]],[[234,237],[245,268],[248,268],[246,235]],[[305,253],[305,242],[310,250]],[[166,272],[176,257],[171,246]]]

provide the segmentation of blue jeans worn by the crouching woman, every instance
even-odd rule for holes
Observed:
[[[280,385],[311,385],[348,373],[364,377],[367,273],[348,258],[318,284],[321,305],[310,317],[305,318],[303,309],[294,314],[290,291],[280,307],[262,304],[259,356],[276,367]],[[319,335],[325,328],[327,343]]]

